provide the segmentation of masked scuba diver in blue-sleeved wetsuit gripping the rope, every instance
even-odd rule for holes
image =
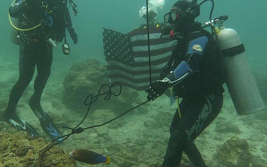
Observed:
[[[196,0],[177,1],[164,15],[164,21],[170,24],[170,38],[178,37],[178,42],[163,67],[163,79],[146,88],[148,100],[155,100],[169,87],[173,88],[175,98],[182,98],[170,125],[162,167],[179,166],[183,151],[195,167],[205,167],[193,141],[222,108],[222,57],[213,36],[195,22],[199,15]]]

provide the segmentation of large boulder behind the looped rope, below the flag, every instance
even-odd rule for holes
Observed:
[[[86,113],[88,106],[84,104],[85,98],[90,94],[96,96],[99,88],[103,84],[108,83],[107,70],[105,67],[99,65],[99,61],[89,59],[85,63],[74,64],[63,82],[65,91],[62,97],[62,103],[75,112]],[[108,87],[104,86],[100,93],[105,93],[108,90]],[[119,86],[114,85],[112,87],[112,93],[118,94]],[[115,97],[111,95],[108,101],[104,100],[105,95],[99,96],[97,101],[91,105],[90,111],[111,109],[118,115],[132,108],[132,104],[138,101],[138,95],[138,91],[123,86],[120,96]]]

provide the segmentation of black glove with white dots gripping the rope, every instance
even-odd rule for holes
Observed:
[[[155,100],[161,96],[168,87],[170,87],[170,84],[167,79],[153,82],[148,88],[145,89],[146,93],[148,93],[147,99],[149,101]]]

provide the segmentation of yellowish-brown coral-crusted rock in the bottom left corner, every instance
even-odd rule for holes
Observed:
[[[44,151],[49,144],[43,138],[32,138],[25,131],[0,132],[0,166],[75,167],[76,162],[60,148]]]

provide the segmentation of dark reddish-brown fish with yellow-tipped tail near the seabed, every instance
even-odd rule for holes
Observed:
[[[84,150],[84,149],[71,151],[69,155],[76,161],[85,162],[91,165],[99,163],[108,164],[110,161],[110,158],[107,156],[102,156],[94,151]]]

